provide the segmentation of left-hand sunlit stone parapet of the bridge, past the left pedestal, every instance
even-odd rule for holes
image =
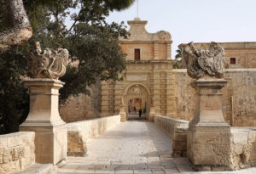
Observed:
[[[84,156],[86,142],[120,123],[120,115],[67,124],[67,155]]]

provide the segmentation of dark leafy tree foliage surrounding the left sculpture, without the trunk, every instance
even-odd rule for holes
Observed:
[[[22,46],[0,54],[0,72],[9,72],[0,79],[0,100],[3,101],[0,133],[17,131],[17,125],[26,119],[28,95],[22,80],[26,75],[26,55],[33,42],[41,42],[42,48],[53,48],[57,42],[69,50],[71,62],[61,78],[66,82],[60,90],[61,102],[70,95],[88,93],[86,88],[97,79],[120,80],[119,73],[125,70],[125,54],[121,52],[118,38],[126,37],[128,32],[124,23],[108,24],[105,19],[110,11],[128,8],[133,1],[24,0],[23,3],[33,36]],[[0,9],[7,10],[6,6]],[[0,15],[0,26],[5,26],[4,20],[5,16]],[[72,25],[67,27],[66,20],[73,21]],[[10,95],[13,98],[9,98]],[[9,126],[10,122],[15,126]]]

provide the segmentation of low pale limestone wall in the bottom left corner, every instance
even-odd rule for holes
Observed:
[[[0,135],[0,173],[21,171],[35,163],[35,133]]]

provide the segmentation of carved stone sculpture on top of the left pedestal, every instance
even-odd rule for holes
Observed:
[[[28,76],[32,78],[58,79],[66,73],[68,61],[67,49],[56,45],[55,49],[45,48],[42,51],[40,43],[35,43],[35,48],[28,56]]]

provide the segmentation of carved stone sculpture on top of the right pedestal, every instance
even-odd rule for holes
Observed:
[[[207,50],[195,48],[193,42],[180,44],[182,57],[186,62],[191,78],[199,79],[206,74],[221,78],[224,76],[224,48],[216,42],[211,42]]]

